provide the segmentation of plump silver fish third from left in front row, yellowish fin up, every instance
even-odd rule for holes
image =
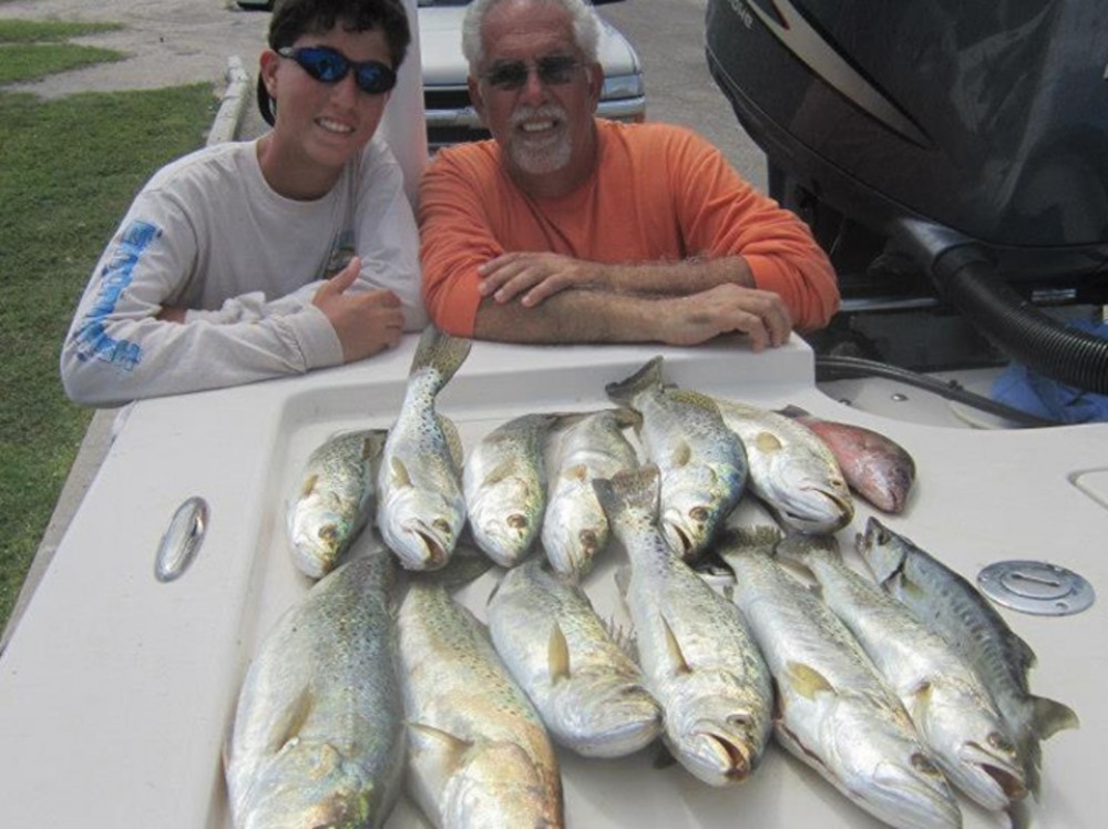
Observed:
[[[615,643],[585,592],[532,559],[489,601],[496,652],[554,740],[585,757],[622,757],[661,731],[643,672]]]

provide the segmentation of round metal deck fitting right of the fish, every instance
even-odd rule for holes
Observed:
[[[1038,616],[1068,616],[1092,605],[1092,585],[1071,570],[1042,561],[998,561],[977,574],[989,598]]]

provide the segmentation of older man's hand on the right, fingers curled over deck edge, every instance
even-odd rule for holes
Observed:
[[[740,331],[755,351],[784,345],[792,317],[781,297],[769,290],[719,285],[700,294],[664,299],[658,308],[658,339],[695,346],[720,334]]]

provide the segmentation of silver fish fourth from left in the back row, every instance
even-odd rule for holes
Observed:
[[[624,434],[640,417],[630,409],[604,409],[564,416],[547,440],[550,487],[542,542],[555,571],[581,577],[608,544],[608,519],[593,480],[638,465],[638,453]]]

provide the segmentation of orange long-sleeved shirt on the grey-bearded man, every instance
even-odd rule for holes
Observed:
[[[439,151],[419,206],[423,301],[435,325],[472,336],[478,267],[515,250],[609,264],[739,255],[758,288],[781,296],[798,329],[828,324],[839,308],[834,270],[794,214],[689,130],[596,123],[596,172],[561,198],[521,192],[494,141]]]

